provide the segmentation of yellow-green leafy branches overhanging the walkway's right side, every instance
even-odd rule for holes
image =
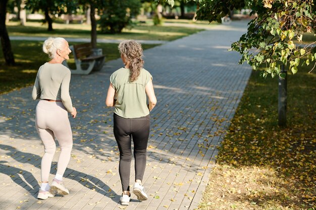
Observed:
[[[174,2],[165,0],[166,2]],[[239,63],[247,62],[253,69],[265,64],[263,76],[275,77],[282,64],[288,64],[292,73],[299,64],[309,65],[316,59],[314,43],[303,44],[304,33],[315,33],[316,7],[313,0],[189,0],[199,4],[197,20],[221,22],[230,10],[249,7],[256,18],[248,24],[248,31],[231,50],[242,55]],[[302,57],[307,59],[300,63]],[[311,67],[311,71],[315,66]]]

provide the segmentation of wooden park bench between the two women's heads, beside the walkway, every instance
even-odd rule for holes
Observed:
[[[106,56],[102,54],[102,49],[93,49],[91,43],[71,45],[69,48],[74,55],[76,69],[71,69],[66,60],[63,64],[70,69],[71,74],[88,75],[92,70],[102,68]]]

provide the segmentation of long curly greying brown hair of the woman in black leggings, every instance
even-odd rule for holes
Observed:
[[[136,81],[144,66],[144,60],[141,58],[143,55],[141,45],[134,40],[125,40],[119,44],[119,51],[129,63],[129,81]]]

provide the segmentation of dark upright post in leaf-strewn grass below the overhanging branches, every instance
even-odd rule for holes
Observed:
[[[285,73],[284,79],[279,77],[279,126],[286,126],[286,106],[287,106],[287,71],[282,65],[281,73]]]

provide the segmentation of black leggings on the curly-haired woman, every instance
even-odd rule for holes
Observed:
[[[138,118],[124,118],[114,113],[114,136],[120,150],[119,173],[123,191],[129,191],[132,150],[134,143],[135,180],[142,180],[146,167],[146,150],[149,137],[149,114]]]

